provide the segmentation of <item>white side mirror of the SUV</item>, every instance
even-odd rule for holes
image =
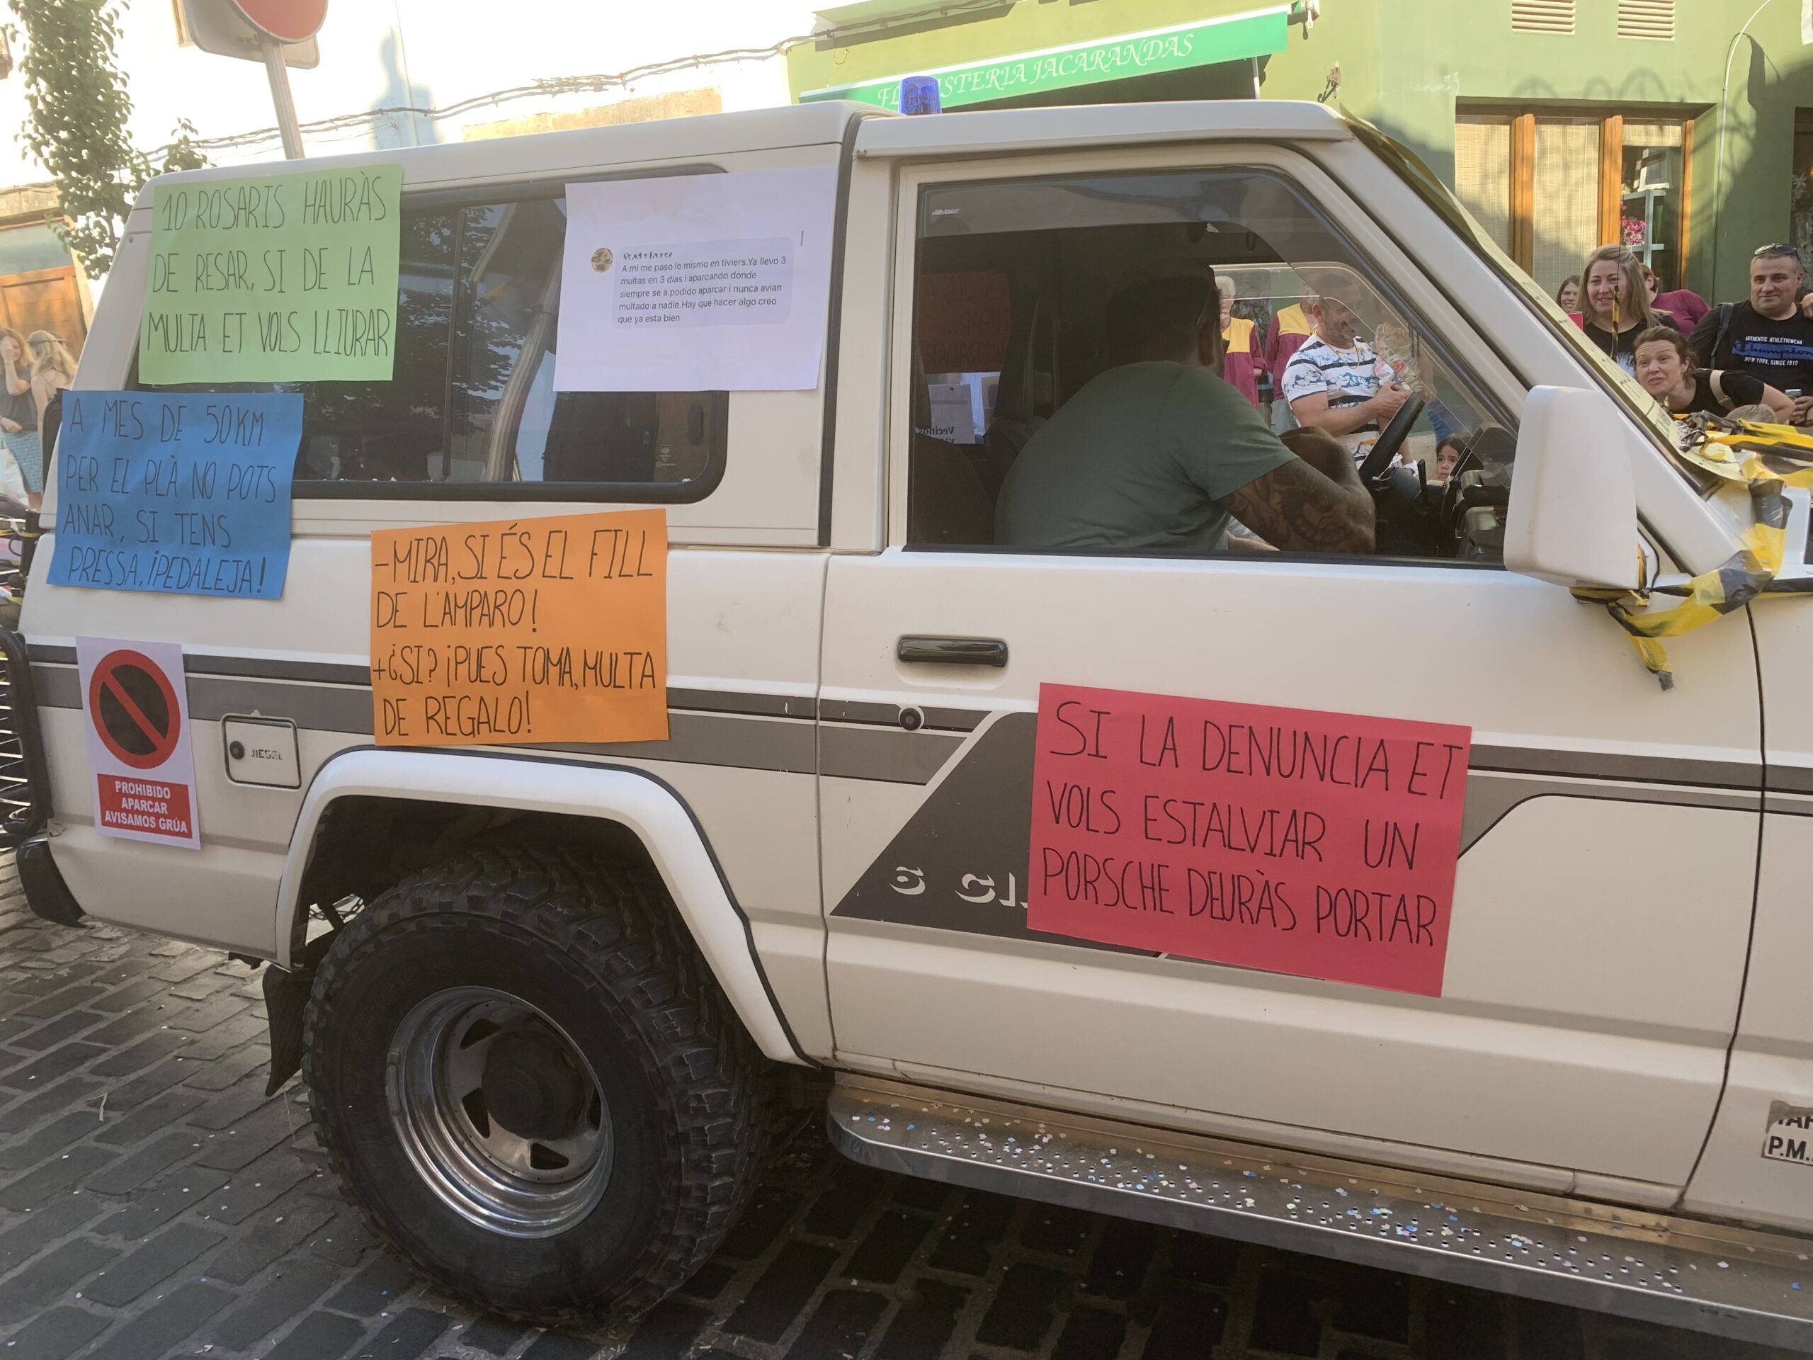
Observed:
[[[1603,392],[1530,388],[1517,426],[1505,566],[1557,586],[1635,589],[1630,430]]]

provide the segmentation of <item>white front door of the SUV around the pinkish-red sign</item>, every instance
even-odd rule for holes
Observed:
[[[1064,337],[1099,330],[1139,250],[1211,259],[1246,232],[1242,257],[1340,263],[1440,363],[1445,417],[1496,424],[1507,444],[1530,384],[1594,379],[1481,261],[1432,279],[1418,232],[1447,228],[1409,194],[1387,219],[1276,145],[926,158],[896,174],[885,520],[876,549],[832,559],[825,609],[839,1063],[1672,1199],[1719,1099],[1744,972],[1759,707],[1740,622],[1672,644],[1664,695],[1603,609],[1505,571],[1488,533],[1463,560],[1032,551],[963,528],[990,520],[975,502],[988,435],[1037,439],[1026,399],[1053,370],[1055,404],[1073,392],[1064,368],[1086,346]],[[1191,203],[1211,212],[1193,219]],[[1242,219],[1255,203],[1264,219]],[[1452,241],[1429,252],[1456,256]],[[1057,337],[1046,355],[1003,355],[997,403],[1023,404],[995,419],[1030,432],[990,430],[955,455],[916,415],[916,297],[946,270],[1008,274],[1015,335],[1044,316]],[[1425,419],[1418,461],[1436,433]],[[1661,466],[1635,426],[1632,453]],[[1650,495],[1655,477],[1639,482]],[[916,524],[928,486],[943,519]],[[843,542],[863,513],[839,499]],[[1661,513],[1653,495],[1644,513]],[[1042,684],[1469,727],[1440,996],[1028,928]]]

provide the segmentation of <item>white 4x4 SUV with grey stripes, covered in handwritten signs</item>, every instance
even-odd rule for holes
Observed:
[[[1313,105],[821,103],[384,163],[395,372],[279,384],[281,598],[53,584],[53,461],[9,829],[40,916],[270,963],[272,1079],[424,1271],[647,1307],[794,1066],[872,1164],[1808,1344],[1813,613],[1673,640],[1664,693],[1570,595],[1717,569],[1750,500],[1411,158]],[[805,167],[814,386],[548,381],[569,185]],[[150,205],[78,390],[145,386]],[[1378,551],[995,542],[1110,294],[1198,267],[1322,279],[1416,388]],[[373,531],[649,506],[667,740],[373,738]],[[78,638],[179,646],[194,847],[98,825]],[[1284,753],[1316,789],[1227,792]],[[1349,812],[1434,887],[1316,879]]]

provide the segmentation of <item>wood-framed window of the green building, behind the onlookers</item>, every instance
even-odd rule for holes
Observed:
[[[1454,192],[1548,292],[1599,245],[1623,243],[1679,288],[1693,125],[1615,111],[1463,112]]]

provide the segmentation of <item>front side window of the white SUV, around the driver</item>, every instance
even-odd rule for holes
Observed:
[[[1164,513],[1169,495],[1188,519],[1184,502],[1207,495],[1202,482],[1215,490],[1213,473],[1175,488],[1142,482],[1140,459],[1177,435],[1157,428],[1149,408],[1129,408],[1100,448],[1077,446],[1088,439],[1079,432],[1102,428],[1079,412],[1099,415],[1102,393],[1126,377],[1115,372],[1124,364],[1110,335],[1113,299],[1155,279],[1188,288],[1213,272],[1231,303],[1229,352],[1215,372],[1249,408],[1247,442],[1249,421],[1276,433],[1323,423],[1325,406],[1336,413],[1329,433],[1360,464],[1389,419],[1340,412],[1380,386],[1409,388],[1421,410],[1374,497],[1380,555],[1499,560],[1514,424],[1285,178],[1215,169],[932,185],[921,190],[914,248],[908,546],[1227,549],[1200,533],[1122,533],[1100,510],[1131,500],[1139,513]],[[1334,310],[1343,325],[1329,326]],[[1213,439],[1204,457],[1220,457]],[[1024,517],[1003,510],[1004,499],[1062,502],[1064,493],[1044,493],[1050,479],[1079,470],[1100,479],[1075,491],[1088,524],[1041,540],[1044,524],[1028,533]],[[1242,526],[1231,533],[1242,539]]]

